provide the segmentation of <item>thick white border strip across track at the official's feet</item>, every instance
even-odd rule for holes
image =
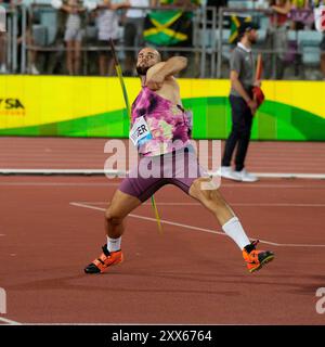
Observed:
[[[125,176],[123,170],[103,170],[103,169],[15,169],[0,168],[0,175],[109,175]],[[217,176],[213,171],[208,171],[209,175]],[[304,178],[324,180],[325,174],[299,174],[299,172],[252,172],[259,178]]]

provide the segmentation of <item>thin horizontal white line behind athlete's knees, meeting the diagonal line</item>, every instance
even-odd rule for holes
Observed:
[[[76,202],[79,204],[89,205],[108,205],[109,202]],[[325,207],[325,204],[296,204],[296,203],[232,203],[232,206],[261,206],[261,207]],[[142,205],[151,205],[151,203],[143,203]],[[200,203],[158,203],[156,205],[160,206],[202,206]]]

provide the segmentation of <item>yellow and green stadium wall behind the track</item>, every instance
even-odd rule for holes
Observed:
[[[194,139],[225,139],[231,129],[229,80],[179,79],[194,113]],[[138,78],[126,78],[130,101]],[[325,140],[324,81],[264,81],[266,101],[252,139]],[[0,136],[127,138],[129,119],[114,77],[0,76]]]

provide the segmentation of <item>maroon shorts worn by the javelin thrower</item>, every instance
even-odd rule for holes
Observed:
[[[138,166],[122,180],[119,190],[145,202],[166,184],[177,185],[188,194],[191,184],[199,177],[209,175],[199,166],[196,153],[190,145],[164,155],[141,157]]]

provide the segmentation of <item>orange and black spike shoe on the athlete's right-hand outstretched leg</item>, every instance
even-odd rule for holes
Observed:
[[[251,242],[243,249],[243,257],[247,262],[249,272],[255,272],[261,269],[266,262],[274,259],[274,254],[270,250],[257,250],[256,246],[259,240]]]

